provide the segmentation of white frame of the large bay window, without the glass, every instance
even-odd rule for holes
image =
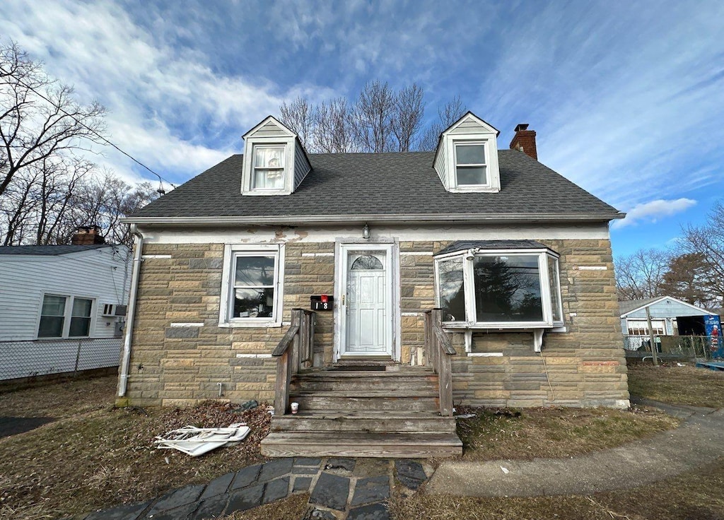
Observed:
[[[538,257],[538,272],[541,284],[541,304],[543,310],[542,321],[502,321],[502,322],[479,322],[476,321],[477,309],[475,304],[475,295],[473,289],[473,259],[468,260],[469,255],[473,256],[532,256]],[[560,294],[560,255],[549,249],[515,249],[515,250],[462,250],[450,252],[445,255],[435,257],[435,306],[440,306],[439,296],[439,263],[451,258],[462,257],[463,259],[463,285],[465,288],[465,321],[447,321],[442,325],[445,328],[476,328],[476,329],[531,329],[531,328],[558,328],[563,327],[563,302]],[[558,260],[558,270],[556,273],[558,282],[557,303],[560,309],[561,320],[553,320],[552,300],[550,296],[550,278],[548,276],[548,257]]]

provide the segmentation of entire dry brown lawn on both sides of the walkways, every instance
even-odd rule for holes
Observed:
[[[683,404],[724,406],[724,374],[691,367],[632,367],[632,393]],[[116,378],[65,381],[0,393],[0,415],[54,417],[35,430],[0,438],[0,519],[59,518],[148,500],[167,490],[208,482],[264,460],[258,443],[266,435],[262,409],[236,414],[232,406],[195,409],[116,409]],[[459,409],[458,412],[466,412]],[[610,448],[675,427],[675,419],[646,409],[476,410],[460,421],[463,459],[529,459],[573,456]],[[155,435],[186,424],[225,426],[247,421],[253,437],[194,459],[156,450]],[[472,499],[416,494],[394,497],[397,519],[539,518],[724,518],[719,498],[724,462],[641,490],[592,498]],[[235,520],[300,518],[306,495],[296,495]],[[715,516],[713,511],[718,511]],[[557,515],[557,516],[556,516]],[[623,516],[622,516],[623,515]]]

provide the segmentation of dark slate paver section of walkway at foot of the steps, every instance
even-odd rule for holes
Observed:
[[[307,492],[309,506],[300,520],[386,520],[395,479],[416,490],[430,474],[424,462],[407,459],[274,459],[146,503],[96,511],[84,520],[214,519]]]

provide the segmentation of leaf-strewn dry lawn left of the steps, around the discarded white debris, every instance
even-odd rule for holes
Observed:
[[[0,415],[59,418],[0,439],[0,519],[59,518],[148,500],[264,460],[258,448],[268,432],[264,409],[243,414],[225,404],[117,409],[115,382],[111,376],[0,394]],[[238,446],[198,458],[153,448],[156,435],[177,427],[232,422],[253,428]]]

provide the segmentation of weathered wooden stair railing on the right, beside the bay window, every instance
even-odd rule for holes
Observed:
[[[458,354],[442,331],[442,311],[425,311],[425,359],[437,373],[440,387],[440,415],[452,417],[452,367],[450,356]]]

